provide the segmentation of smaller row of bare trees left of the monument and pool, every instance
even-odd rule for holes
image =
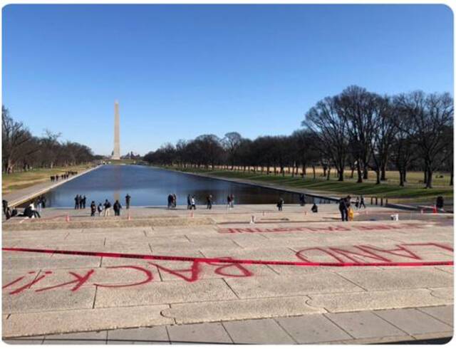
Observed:
[[[92,150],[77,142],[60,142],[60,134],[46,130],[43,137],[31,134],[1,106],[1,165],[6,173],[28,171],[33,167],[70,166],[90,162]]]

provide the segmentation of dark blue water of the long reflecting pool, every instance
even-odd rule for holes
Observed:
[[[275,204],[283,197],[285,204],[298,204],[299,195],[275,189],[237,184],[220,179],[199,177],[138,165],[104,165],[87,175],[75,178],[46,194],[49,207],[73,207],[76,194],[86,195],[87,202],[125,204],[130,194],[133,206],[167,205],[168,194],[177,195],[177,204],[186,205],[187,195],[195,195],[197,204],[205,205],[212,194],[214,204],[226,204],[227,196],[234,195],[234,204]],[[321,199],[306,195],[306,202]]]

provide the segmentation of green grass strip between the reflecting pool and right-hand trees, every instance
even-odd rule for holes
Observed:
[[[249,179],[258,183],[276,184],[289,189],[308,189],[309,191],[321,194],[331,194],[333,196],[352,194],[352,196],[356,197],[356,195],[363,194],[368,201],[370,200],[370,197],[384,197],[388,198],[388,202],[434,204],[435,198],[439,195],[442,195],[442,197],[445,197],[446,199],[451,199],[451,201],[453,197],[453,188],[449,185],[444,185],[443,181],[440,181],[438,184],[436,183],[435,187],[432,189],[424,189],[423,184],[418,182],[422,179],[422,174],[420,172],[410,172],[408,174],[408,184],[406,187],[400,187],[398,184],[394,184],[393,182],[393,172],[388,173],[388,175],[392,178],[391,182],[375,184],[375,177],[372,178],[375,174],[373,174],[371,179],[366,182],[356,183],[356,178],[347,179],[345,182],[338,182],[336,178],[333,177],[331,177],[330,180],[326,180],[323,177],[312,179],[313,176],[309,172],[308,178],[302,179],[300,176],[291,177],[289,174],[286,174],[285,176],[268,176],[264,174],[261,175],[261,172],[254,173],[229,170],[212,171],[194,168],[178,170],[185,172],[207,173],[208,175],[212,175],[214,177]],[[449,182],[449,175],[446,175],[445,177]]]

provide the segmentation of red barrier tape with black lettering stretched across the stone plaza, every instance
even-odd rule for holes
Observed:
[[[185,256],[159,256],[148,254],[120,254],[111,252],[91,252],[91,251],[65,251],[55,249],[23,249],[13,247],[3,247],[2,251],[14,252],[34,252],[41,254],[70,254],[74,256],[95,256],[110,258],[130,258],[147,259],[159,261],[198,261],[202,263],[227,263],[227,264],[260,264],[260,265],[279,265],[279,266],[452,266],[453,261],[421,261],[421,262],[383,262],[383,263],[316,263],[304,261],[258,261],[252,259],[222,259],[222,258],[203,258]]]

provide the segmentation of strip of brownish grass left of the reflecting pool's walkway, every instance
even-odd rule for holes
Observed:
[[[34,184],[49,181],[52,175],[61,175],[66,171],[82,171],[93,165],[79,165],[70,167],[54,167],[53,169],[33,169],[27,172],[2,174],[1,194],[9,194],[18,189],[31,187]]]

